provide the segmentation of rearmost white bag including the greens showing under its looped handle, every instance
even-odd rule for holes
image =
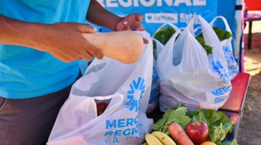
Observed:
[[[218,27],[213,27],[214,23],[216,22],[216,20],[218,20],[218,18],[220,18],[223,21],[223,23],[225,24],[225,32],[223,31],[223,29],[220,29]],[[232,80],[232,79],[234,79],[234,77],[236,77],[236,75],[238,75],[239,66],[233,55],[233,49],[232,49],[232,44],[231,44],[231,41],[232,41],[231,29],[227,23],[227,20],[223,16],[216,16],[209,23],[209,25],[211,25],[213,27],[214,31],[216,32],[216,35],[218,36],[218,39],[220,40],[223,53],[227,60],[229,77]]]

